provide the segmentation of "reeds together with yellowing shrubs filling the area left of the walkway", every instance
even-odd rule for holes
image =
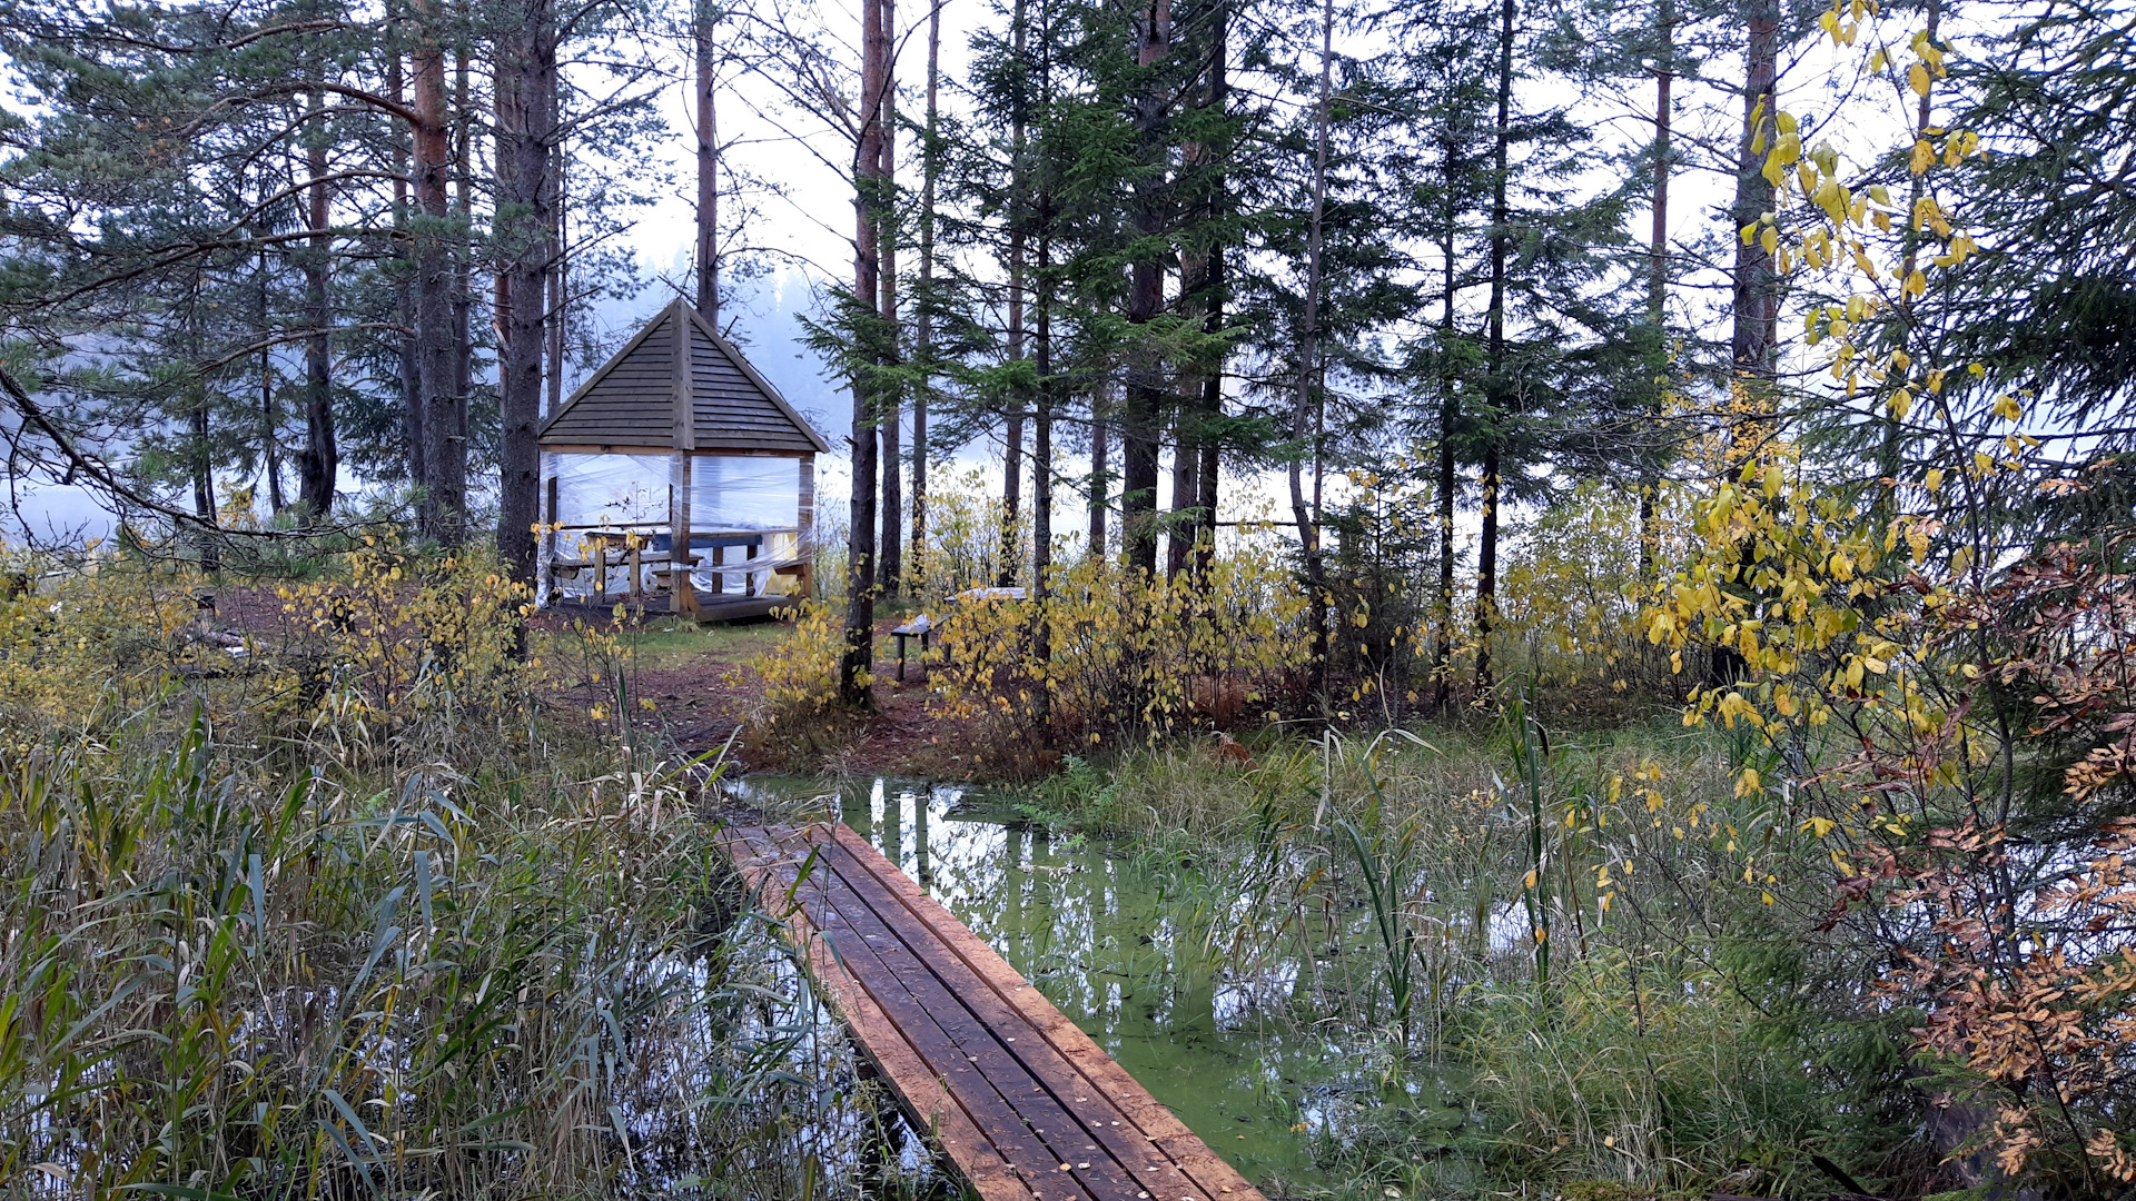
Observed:
[[[380,560],[241,669],[167,564],[0,611],[0,1192],[940,1192],[728,876],[724,765],[549,720],[421,620],[506,603],[478,560]]]

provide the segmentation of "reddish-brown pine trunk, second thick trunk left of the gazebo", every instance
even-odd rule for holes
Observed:
[[[468,457],[453,363],[453,235],[446,199],[451,130],[444,92],[444,15],[414,0],[414,318],[423,376],[423,466],[429,496],[423,532],[442,545],[466,541]]]

